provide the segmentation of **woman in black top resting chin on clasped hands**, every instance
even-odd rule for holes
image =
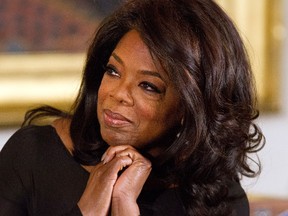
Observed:
[[[41,116],[57,119],[31,125]],[[99,27],[72,111],[28,112],[4,146],[1,215],[249,215],[257,116],[213,1],[130,0]]]

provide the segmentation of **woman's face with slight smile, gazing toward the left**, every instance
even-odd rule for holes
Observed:
[[[109,58],[97,115],[102,138],[111,146],[143,148],[180,122],[179,96],[135,30],[123,36]]]

